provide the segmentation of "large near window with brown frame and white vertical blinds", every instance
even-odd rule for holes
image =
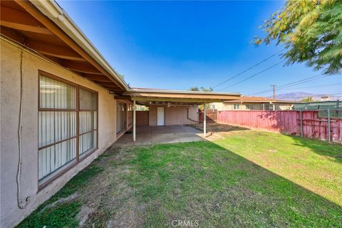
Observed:
[[[97,93],[48,73],[39,73],[40,184],[76,164],[79,155],[97,148],[97,118]]]

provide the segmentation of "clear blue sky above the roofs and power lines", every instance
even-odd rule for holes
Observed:
[[[281,46],[254,46],[258,28],[283,1],[58,1],[116,71],[132,87],[187,90],[213,87]],[[215,90],[249,95],[319,72],[280,64],[276,56]],[[318,78],[278,93],[338,93],[342,76]],[[260,95],[271,95],[263,93]]]

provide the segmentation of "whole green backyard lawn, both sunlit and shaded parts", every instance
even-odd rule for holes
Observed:
[[[85,227],[342,227],[341,145],[252,130],[221,135],[108,150],[19,227],[75,227],[80,210],[90,212]]]

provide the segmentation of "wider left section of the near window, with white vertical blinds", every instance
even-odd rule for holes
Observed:
[[[38,178],[76,158],[77,88],[53,78],[39,78]]]

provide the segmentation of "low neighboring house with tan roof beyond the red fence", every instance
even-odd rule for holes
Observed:
[[[262,97],[240,97],[237,100],[225,100],[222,103],[212,103],[215,110],[292,110],[296,101],[274,100]]]

